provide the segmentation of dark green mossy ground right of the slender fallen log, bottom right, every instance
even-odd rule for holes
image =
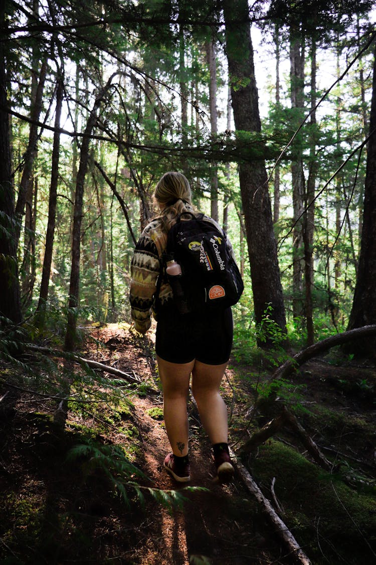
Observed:
[[[321,554],[323,545],[327,558],[335,550],[335,562],[338,555],[346,557],[347,563],[368,562],[371,552],[365,540],[370,545],[376,542],[374,494],[349,488],[339,477],[274,440],[259,448],[251,471],[264,490],[269,489],[272,478],[276,477],[276,496],[288,509],[286,524],[303,546],[311,544],[310,549],[306,546],[307,554],[315,556],[315,563],[325,562]],[[321,549],[312,542],[316,538]]]

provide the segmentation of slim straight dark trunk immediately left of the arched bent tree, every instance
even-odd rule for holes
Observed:
[[[37,307],[37,323],[43,327],[45,323],[46,301],[48,297],[48,285],[50,284],[50,273],[52,264],[52,251],[54,249],[55,219],[57,184],[59,182],[59,156],[60,156],[60,118],[61,106],[63,105],[63,79],[59,77],[56,90],[55,132],[54,145],[51,158],[51,182],[50,196],[48,199],[48,222],[46,232],[45,257],[43,258],[42,281],[39,290],[39,301]]]

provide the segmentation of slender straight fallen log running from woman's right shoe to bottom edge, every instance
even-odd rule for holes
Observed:
[[[230,455],[233,463],[237,469],[238,475],[241,477],[245,487],[253,496],[256,501],[262,506],[264,514],[266,515],[269,523],[276,529],[278,536],[282,539],[287,549],[291,553],[291,557],[294,558],[296,563],[301,563],[302,565],[311,565],[311,561],[308,559],[307,555],[304,553],[302,548],[299,546],[297,540],[295,540],[293,534],[287,528],[284,521],[278,516],[277,512],[272,506],[272,503],[264,497],[263,493],[259,489],[258,485],[255,483],[253,477],[250,475],[249,471],[245,466],[238,460],[236,455],[230,449]]]

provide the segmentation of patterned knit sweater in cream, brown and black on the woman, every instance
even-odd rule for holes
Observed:
[[[204,219],[219,225],[209,216]],[[151,327],[151,316],[156,318],[157,279],[161,272],[162,255],[167,245],[167,234],[162,230],[161,218],[156,218],[145,227],[136,244],[131,261],[130,303],[131,317],[135,328],[145,333]],[[229,252],[233,256],[231,243],[227,238]],[[171,286],[162,280],[158,295],[161,306],[172,300]]]

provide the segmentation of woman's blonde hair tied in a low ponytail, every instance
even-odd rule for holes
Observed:
[[[184,212],[193,212],[192,191],[188,179],[178,172],[165,173],[154,190],[154,198],[162,211],[162,223],[166,232],[175,223],[176,217]]]

